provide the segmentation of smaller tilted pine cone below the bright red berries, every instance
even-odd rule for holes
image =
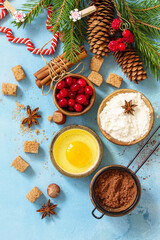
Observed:
[[[147,73],[143,68],[143,62],[140,60],[135,49],[127,48],[124,52],[117,51],[113,53],[113,55],[130,81],[138,83],[147,78]]]

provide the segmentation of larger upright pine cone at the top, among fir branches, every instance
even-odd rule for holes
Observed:
[[[114,6],[111,0],[92,0],[97,11],[88,19],[88,42],[90,51],[96,57],[107,56],[110,50],[110,26],[114,16]]]

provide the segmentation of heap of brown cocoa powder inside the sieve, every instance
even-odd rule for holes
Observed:
[[[98,177],[94,194],[102,208],[122,211],[133,204],[137,195],[137,185],[128,172],[109,169]]]

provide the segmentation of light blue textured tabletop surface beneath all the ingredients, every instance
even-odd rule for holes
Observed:
[[[12,1],[15,8],[20,8],[21,1]],[[0,25],[11,27],[15,36],[29,37],[37,47],[43,46],[51,39],[51,33],[45,29],[47,13],[41,14],[32,25],[25,29],[13,28],[10,24],[11,16],[8,14]],[[54,56],[59,55],[61,43]],[[92,54],[84,60],[85,71],[90,73],[89,62]],[[89,197],[89,185],[94,174],[84,179],[71,179],[61,175],[52,165],[49,158],[49,145],[53,138],[53,131],[59,131],[63,126],[50,123],[47,118],[56,110],[52,94],[44,97],[41,90],[34,83],[33,73],[44,66],[40,56],[32,55],[24,45],[11,44],[4,34],[0,34],[0,81],[17,83],[11,72],[11,68],[17,64],[24,68],[26,79],[17,83],[17,97],[3,96],[0,93],[0,239],[2,240],[159,240],[160,238],[160,152],[156,152],[149,159],[148,163],[138,172],[142,184],[142,197],[137,208],[129,215],[111,218],[104,216],[101,220],[92,217],[93,205]],[[51,57],[46,57],[49,61]],[[155,111],[154,128],[159,124],[160,119],[160,83],[148,71],[148,79],[136,85],[130,83],[116,64],[112,56],[106,57],[100,73],[106,80],[109,73],[116,73],[124,78],[121,88],[132,88],[139,90],[148,97]],[[135,155],[142,143],[121,147],[106,140],[100,133],[96,114],[98,107],[109,93],[115,89],[103,82],[96,87],[96,103],[91,111],[84,116],[68,117],[64,126],[70,124],[82,124],[92,128],[103,142],[104,155],[102,168],[109,164],[127,165]],[[42,119],[40,125],[33,127],[31,132],[23,132],[20,129],[22,117],[26,116],[26,110],[18,113],[17,103],[30,105],[31,108],[40,107]],[[40,134],[35,134],[35,129]],[[42,131],[45,130],[45,131]],[[48,140],[46,140],[48,138]],[[27,154],[23,152],[23,144],[26,140],[36,139],[40,144],[39,154]],[[141,156],[133,164],[133,170],[160,140],[160,131],[142,152]],[[20,155],[30,167],[25,173],[19,173],[11,162]],[[36,210],[47,201],[47,186],[50,183],[57,183],[61,187],[61,194],[52,202],[58,204],[57,216],[41,220],[41,215]],[[37,186],[42,192],[35,203],[30,203],[25,195]],[[97,213],[98,214],[98,213]]]

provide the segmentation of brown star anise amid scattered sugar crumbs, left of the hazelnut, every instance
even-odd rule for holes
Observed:
[[[41,118],[41,115],[36,114],[38,110],[39,108],[35,108],[33,111],[31,111],[30,106],[27,106],[28,117],[23,119],[22,124],[27,123],[29,128],[31,127],[32,123],[39,125],[39,123],[36,120],[37,118]]]

